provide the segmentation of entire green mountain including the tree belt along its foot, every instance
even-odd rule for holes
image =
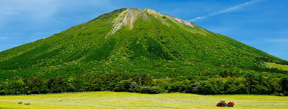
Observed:
[[[150,9],[122,8],[0,52],[0,95],[76,91],[288,95],[288,62]],[[168,77],[168,78],[166,78]]]

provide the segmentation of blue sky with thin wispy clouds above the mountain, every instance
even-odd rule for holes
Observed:
[[[1,0],[0,51],[120,8],[150,8],[288,60],[287,0]]]

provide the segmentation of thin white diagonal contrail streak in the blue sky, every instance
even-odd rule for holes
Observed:
[[[261,0],[247,1],[247,2],[245,2],[245,3],[243,3],[243,4],[240,4],[240,5],[237,5],[237,6],[234,6],[234,7],[230,7],[230,8],[224,9],[224,10],[222,10],[222,11],[214,12],[214,13],[211,13],[211,14],[208,14],[208,15],[205,15],[205,16],[202,16],[202,17],[195,17],[195,18],[193,18],[193,19],[189,19],[188,21],[198,21],[198,20],[201,20],[201,19],[203,19],[203,18],[207,18],[207,17],[214,16],[214,15],[217,15],[217,14],[231,12],[231,11],[240,9],[240,8],[242,8],[242,7],[244,7],[244,6],[253,4],[253,3],[257,2],[257,1],[261,1]]]

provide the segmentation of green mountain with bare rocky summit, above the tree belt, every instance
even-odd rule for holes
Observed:
[[[269,70],[288,62],[151,9],[122,8],[0,52],[0,79],[149,74],[153,78]]]

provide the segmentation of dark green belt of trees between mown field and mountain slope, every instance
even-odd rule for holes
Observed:
[[[103,74],[88,78],[13,77],[0,82],[0,95],[60,93],[77,91],[115,91],[136,93],[195,93],[195,94],[265,94],[288,95],[288,76],[267,76],[249,73],[243,77],[219,75],[179,76],[153,79],[147,74]]]

